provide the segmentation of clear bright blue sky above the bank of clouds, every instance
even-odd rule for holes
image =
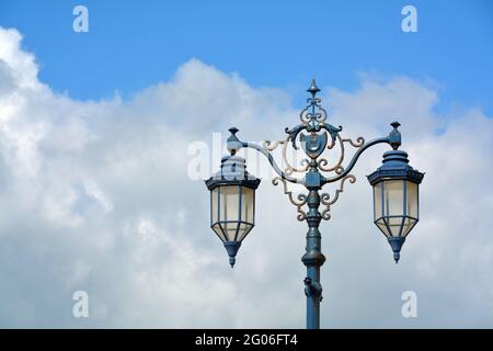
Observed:
[[[89,33],[72,9],[89,9]],[[419,32],[401,31],[417,9]],[[493,111],[493,3],[477,1],[0,1],[0,25],[23,35],[39,78],[73,99],[130,97],[190,58],[278,87],[295,104],[317,77],[354,89],[358,72],[432,82],[439,109]]]

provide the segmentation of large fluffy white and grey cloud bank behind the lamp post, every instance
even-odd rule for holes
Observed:
[[[191,145],[211,146],[213,132],[283,138],[296,123],[289,95],[192,59],[129,100],[76,101],[38,80],[21,41],[0,29],[0,326],[303,327],[306,225],[282,189],[264,179],[231,270],[208,227],[208,192],[188,177]],[[426,176],[422,219],[395,265],[364,178],[386,148],[362,159],[321,227],[322,325],[491,326],[493,120],[438,114],[437,91],[405,77],[324,92],[346,136],[386,135],[399,117]],[[72,316],[76,291],[89,294],[89,318]],[[417,294],[417,318],[401,315],[404,291]]]

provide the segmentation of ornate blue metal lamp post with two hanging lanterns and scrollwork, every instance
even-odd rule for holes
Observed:
[[[274,144],[267,140],[262,146],[241,141],[237,137],[239,131],[230,128],[231,135],[227,140],[230,156],[222,158],[220,171],[208,179],[206,185],[210,191],[210,226],[222,240],[229,262],[233,267],[241,241],[254,226],[255,190],[260,183],[259,179],[246,172],[244,159],[236,154],[241,148],[252,148],[267,157],[278,174],[273,179],[273,184],[283,183],[284,193],[297,207],[298,220],[306,220],[308,224],[306,253],[301,258],[307,267],[307,276],[303,280],[307,295],[307,328],[318,329],[322,301],[320,267],[325,261],[321,252],[322,237],[319,225],[322,219],[330,219],[331,206],[343,192],[344,183],[356,181],[351,171],[362,154],[377,144],[389,144],[392,147],[391,151],[383,154],[383,165],[368,176],[368,181],[374,188],[375,224],[388,238],[395,262],[399,261],[405,237],[419,220],[419,184],[424,174],[408,165],[406,152],[398,150],[401,145],[398,122],[391,124],[393,129],[388,136],[368,143],[365,143],[363,137],[358,137],[356,141],[342,138],[340,135],[342,126],[335,127],[325,122],[328,114],[320,105],[321,99],[317,98],[320,89],[314,80],[307,91],[311,97],[308,99],[308,105],[300,112],[301,123],[291,129],[286,128],[287,137],[284,140]],[[308,134],[303,134],[302,131]],[[297,168],[288,162],[286,151],[289,144],[295,150],[299,150],[301,146],[308,156],[301,162],[302,167]],[[344,147],[347,144],[355,147],[356,151],[347,166],[343,167]],[[340,146],[341,154],[335,165],[329,166],[329,161],[321,158],[321,155],[325,149],[333,149],[335,145]],[[279,146],[283,147],[286,163],[284,170],[272,156],[272,151]],[[294,177],[295,173],[301,173],[303,177]],[[308,193],[294,196],[293,192],[288,191],[288,182],[303,185]],[[335,182],[339,182],[339,188],[333,197],[328,193],[320,193],[325,184]]]

